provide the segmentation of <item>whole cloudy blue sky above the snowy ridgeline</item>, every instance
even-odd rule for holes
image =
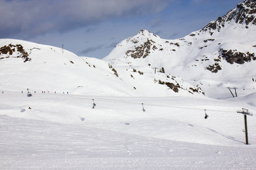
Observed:
[[[141,29],[179,39],[242,0],[0,0],[0,39],[57,46],[104,58]]]

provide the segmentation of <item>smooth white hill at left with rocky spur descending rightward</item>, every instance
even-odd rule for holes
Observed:
[[[21,40],[2,39],[0,46],[3,90],[26,91],[29,88],[31,91],[108,96],[168,96],[177,91],[191,95],[195,90],[202,93],[200,88],[183,83],[181,78],[152,74],[154,70],[148,68],[142,73],[121,65],[122,69],[117,71],[111,63],[100,59],[78,57],[67,50]],[[154,91],[156,88],[158,90]]]

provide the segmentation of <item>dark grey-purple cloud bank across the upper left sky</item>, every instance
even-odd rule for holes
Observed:
[[[0,0],[0,36],[67,32],[103,20],[155,14],[168,0]]]

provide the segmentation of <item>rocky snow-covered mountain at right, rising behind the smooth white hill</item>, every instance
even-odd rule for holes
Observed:
[[[120,42],[104,60],[117,67],[130,65],[141,71],[152,70],[151,73],[156,67],[201,87],[207,96],[221,97],[228,92],[226,87],[240,88],[240,94],[253,92],[255,8],[255,1],[244,1],[203,29],[176,40],[161,39],[142,29]]]

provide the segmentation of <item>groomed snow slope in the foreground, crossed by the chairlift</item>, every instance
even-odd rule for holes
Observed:
[[[255,116],[247,116],[251,145],[245,145],[243,115],[236,112],[255,113],[255,94],[225,100],[32,95],[0,95],[1,169],[256,167]]]

